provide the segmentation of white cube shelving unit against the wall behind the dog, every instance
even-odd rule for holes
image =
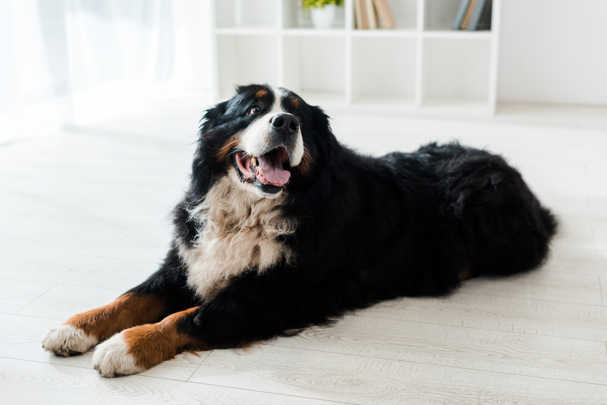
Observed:
[[[459,0],[388,0],[393,30],[353,29],[353,3],[317,30],[298,0],[216,0],[215,98],[268,82],[312,104],[495,112],[500,0],[491,31],[451,29]]]

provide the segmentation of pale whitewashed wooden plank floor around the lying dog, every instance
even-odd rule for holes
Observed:
[[[450,139],[502,153],[561,221],[539,270],[388,301],[247,351],[179,355],[130,377],[100,377],[91,352],[44,352],[48,327],[157,268],[202,108],[168,99],[0,147],[0,403],[607,403],[607,125],[566,109],[333,119],[339,139],[365,153]]]

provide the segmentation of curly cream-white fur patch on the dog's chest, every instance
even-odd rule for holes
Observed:
[[[284,192],[274,199],[260,198],[226,176],[191,210],[198,235],[191,247],[180,246],[179,253],[188,267],[188,284],[201,298],[212,298],[246,270],[263,272],[292,259],[290,249],[277,241],[296,227],[283,217],[284,200]]]

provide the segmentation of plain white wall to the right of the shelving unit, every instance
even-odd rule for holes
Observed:
[[[607,104],[607,0],[502,1],[498,99]]]

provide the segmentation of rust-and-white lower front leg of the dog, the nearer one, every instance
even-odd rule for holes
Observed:
[[[185,332],[197,308],[175,312],[158,323],[131,327],[112,336],[95,349],[95,370],[104,377],[129,375],[171,360],[185,350],[206,349],[202,341]]]

